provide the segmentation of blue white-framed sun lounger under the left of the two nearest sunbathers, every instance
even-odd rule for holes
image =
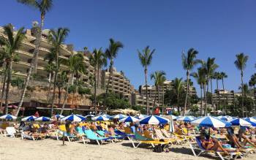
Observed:
[[[211,151],[211,150],[206,150],[206,149],[203,148],[203,146],[202,146],[200,140],[198,140],[197,137],[195,138],[195,141],[196,141],[196,144],[195,144],[195,145],[192,145],[192,143],[189,142],[189,147],[191,148],[192,153],[194,154],[194,156],[200,156],[200,155],[203,154],[203,153],[216,153],[216,154],[219,156],[220,159],[225,160],[225,159],[223,158],[223,156],[222,156],[222,155],[225,155],[225,153],[224,153],[223,151]],[[196,153],[195,153],[195,150],[199,150],[200,153],[196,154]],[[243,158],[241,152],[236,152],[236,151],[234,150],[234,152],[229,152],[229,155],[227,155],[227,159],[237,159],[238,156],[240,156],[241,158]]]

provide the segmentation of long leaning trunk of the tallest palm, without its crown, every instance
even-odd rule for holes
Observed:
[[[17,113],[16,113],[15,116],[18,116],[18,114],[20,112],[20,107],[23,104],[23,100],[24,100],[24,97],[25,97],[25,94],[26,94],[26,90],[27,90],[27,87],[29,85],[29,80],[30,80],[30,77],[31,77],[31,73],[32,73],[34,68],[37,69],[37,63],[36,63],[36,65],[34,65],[34,64],[35,64],[35,62],[37,62],[37,59],[38,59],[39,46],[40,46],[40,43],[41,43],[41,34],[42,34],[42,27],[44,25],[44,20],[45,20],[45,17],[43,15],[41,15],[41,23],[40,23],[39,31],[37,31],[37,34],[36,34],[35,50],[33,52],[34,56],[32,58],[32,61],[31,61],[30,67],[29,67],[28,75],[26,76],[26,82],[25,82],[25,85],[24,85],[24,88],[23,88],[23,93],[21,94],[20,103],[18,104],[18,110],[17,110]]]

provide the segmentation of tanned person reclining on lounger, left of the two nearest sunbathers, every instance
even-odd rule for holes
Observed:
[[[210,138],[209,140],[206,140],[205,137],[200,136],[199,140],[202,144],[202,147],[207,151],[222,151],[226,154],[234,151],[232,149],[223,148],[222,142],[219,142],[217,139],[214,139],[214,138]],[[235,151],[238,151],[238,149],[236,149]]]

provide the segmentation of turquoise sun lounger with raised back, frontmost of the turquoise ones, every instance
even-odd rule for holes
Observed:
[[[97,137],[97,134],[92,132],[91,129],[85,130],[84,133],[86,134],[86,138],[82,137],[83,144],[87,143],[86,139],[88,139],[90,141],[96,141],[98,145],[102,145],[103,141],[110,140],[110,142],[113,142],[113,138],[111,138],[111,137]]]

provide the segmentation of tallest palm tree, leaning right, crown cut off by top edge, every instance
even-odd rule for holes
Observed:
[[[53,7],[53,0],[17,0],[18,2],[22,4],[26,4],[30,7],[34,7],[39,10],[40,12],[40,17],[41,17],[41,23],[39,28],[37,28],[37,34],[36,34],[36,41],[35,41],[35,50],[33,53],[33,58],[29,67],[29,72],[28,75],[26,76],[26,82],[23,88],[23,93],[21,94],[20,97],[20,103],[18,104],[18,111],[16,113],[16,116],[18,116],[18,113],[20,111],[20,107],[23,104],[23,100],[26,94],[27,87],[29,85],[29,80],[31,77],[31,73],[33,69],[35,69],[35,72],[37,72],[37,59],[38,59],[38,54],[39,54],[39,46],[41,42],[41,34],[42,34],[42,28],[44,26],[45,22],[45,15],[47,12],[50,11],[50,9]]]

